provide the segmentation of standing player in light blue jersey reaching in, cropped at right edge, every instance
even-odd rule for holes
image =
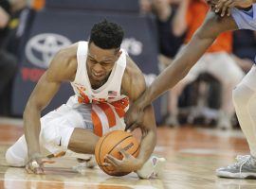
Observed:
[[[256,30],[256,0],[209,0],[215,12],[209,12],[192,41],[181,51],[174,62],[166,68],[143,93],[126,114],[126,129],[135,129],[142,123],[143,112],[160,94],[174,87],[185,77],[192,66],[207,51],[217,36],[235,29]],[[225,16],[225,14],[231,16]],[[229,70],[227,70],[229,72]],[[239,123],[250,148],[250,155],[238,156],[237,163],[216,170],[219,177],[256,177],[256,67],[253,65],[247,76],[233,90],[233,103]]]

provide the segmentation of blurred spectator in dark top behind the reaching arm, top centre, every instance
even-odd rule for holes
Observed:
[[[178,49],[183,44],[186,31],[182,21],[186,16],[188,0],[140,0],[141,12],[154,13],[158,34],[159,70],[164,70],[172,63]],[[181,25],[179,25],[181,24]],[[162,98],[162,114],[169,114],[166,100],[171,93]]]

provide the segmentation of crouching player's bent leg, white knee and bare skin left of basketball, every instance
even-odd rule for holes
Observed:
[[[62,116],[47,122],[41,131],[46,149],[52,153],[67,149],[83,154],[94,153],[99,137],[93,133],[91,104],[64,108],[63,112]]]

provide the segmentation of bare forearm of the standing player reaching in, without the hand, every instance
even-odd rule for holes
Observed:
[[[206,52],[215,38],[199,39],[197,35],[176,57],[171,65],[162,72],[143,94],[144,105],[152,103],[155,98],[174,87],[182,78],[186,77],[192,66]],[[200,42],[200,43],[198,43]]]

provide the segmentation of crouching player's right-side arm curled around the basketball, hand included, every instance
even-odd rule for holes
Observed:
[[[127,57],[128,65],[122,80],[122,90],[124,94],[129,96],[131,102],[137,99],[146,89],[145,79],[143,74],[138,69],[137,65]],[[135,90],[136,89],[136,90]],[[116,167],[116,170],[121,172],[136,171],[149,159],[156,145],[156,125],[155,113],[152,105],[145,109],[143,121],[140,125],[142,138],[140,142],[140,150],[137,158],[120,149],[123,155],[123,160],[119,161],[108,155],[109,163]]]

